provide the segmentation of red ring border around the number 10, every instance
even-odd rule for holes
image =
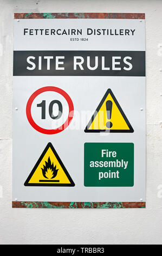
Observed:
[[[68,118],[67,120],[65,121],[64,124],[62,124],[60,127],[56,128],[56,129],[51,129],[51,130],[48,130],[48,129],[44,129],[40,126],[38,126],[35,121],[33,120],[33,117],[31,116],[31,105],[34,101],[34,99],[41,93],[44,93],[44,92],[56,92],[56,93],[60,93],[65,99],[66,101],[68,102],[68,106],[69,106],[69,114],[68,114]],[[29,98],[28,102],[27,102],[27,107],[26,107],[26,114],[27,114],[27,118],[28,118],[28,121],[30,123],[30,125],[38,132],[41,132],[41,133],[44,133],[44,134],[56,134],[56,133],[59,133],[61,131],[63,131],[64,129],[67,128],[67,126],[70,124],[70,122],[72,121],[73,119],[73,116],[74,116],[74,105],[73,105],[73,101],[72,99],[70,98],[70,96],[64,92],[64,90],[58,88],[58,87],[54,87],[54,86],[46,86],[46,87],[42,87],[38,90],[36,90]]]

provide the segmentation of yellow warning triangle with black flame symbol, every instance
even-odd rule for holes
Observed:
[[[24,186],[75,186],[50,142],[35,164]]]

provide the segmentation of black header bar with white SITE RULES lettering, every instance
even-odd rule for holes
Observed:
[[[14,51],[14,76],[145,76],[145,51]]]

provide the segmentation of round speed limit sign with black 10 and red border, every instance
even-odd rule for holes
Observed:
[[[27,103],[27,118],[31,126],[44,134],[63,131],[74,115],[73,101],[61,88],[47,86],[34,92]]]

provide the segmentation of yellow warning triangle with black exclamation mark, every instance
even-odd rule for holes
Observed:
[[[111,89],[103,96],[85,132],[134,132]]]

